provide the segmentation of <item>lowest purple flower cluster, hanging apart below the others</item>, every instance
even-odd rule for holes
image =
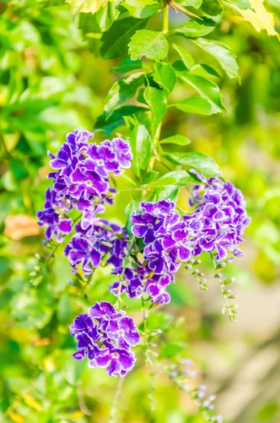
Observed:
[[[138,345],[140,335],[133,319],[110,302],[95,302],[87,314],[75,318],[70,332],[78,341],[75,360],[87,357],[89,367],[106,367],[114,377],[133,369],[136,360],[131,347]]]

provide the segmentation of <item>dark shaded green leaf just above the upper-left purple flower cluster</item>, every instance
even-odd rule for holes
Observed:
[[[118,126],[125,125],[123,116],[131,116],[138,111],[145,110],[146,109],[139,106],[121,106],[119,109],[115,110],[109,118],[106,113],[98,116],[94,129],[96,132],[102,132],[109,136],[114,129],[118,128]]]

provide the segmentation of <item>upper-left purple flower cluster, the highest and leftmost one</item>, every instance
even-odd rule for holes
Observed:
[[[47,228],[47,240],[54,234],[61,243],[62,235],[71,232],[68,212],[73,207],[83,212],[83,220],[88,221],[85,215],[91,213],[95,198],[102,202],[107,191],[114,192],[109,188],[109,174],[119,175],[130,167],[132,154],[127,142],[114,138],[97,145],[89,142],[92,137],[87,130],[74,130],[66,136],[56,157],[48,153],[50,166],[55,170],[49,178],[54,183],[46,192],[44,210],[37,214],[39,225]]]

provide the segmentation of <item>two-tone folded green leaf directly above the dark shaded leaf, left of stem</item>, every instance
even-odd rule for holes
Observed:
[[[144,82],[144,73],[133,73],[114,83],[105,99],[104,111],[110,115],[123,103],[135,96],[138,88]]]

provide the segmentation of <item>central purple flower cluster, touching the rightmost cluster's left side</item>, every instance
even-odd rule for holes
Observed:
[[[141,212],[141,213],[140,213]],[[150,270],[143,290],[150,294],[151,302],[170,301],[166,286],[174,281],[174,273],[195,254],[194,229],[183,221],[175,204],[170,200],[141,202],[135,212],[131,231],[145,244],[143,255]]]

